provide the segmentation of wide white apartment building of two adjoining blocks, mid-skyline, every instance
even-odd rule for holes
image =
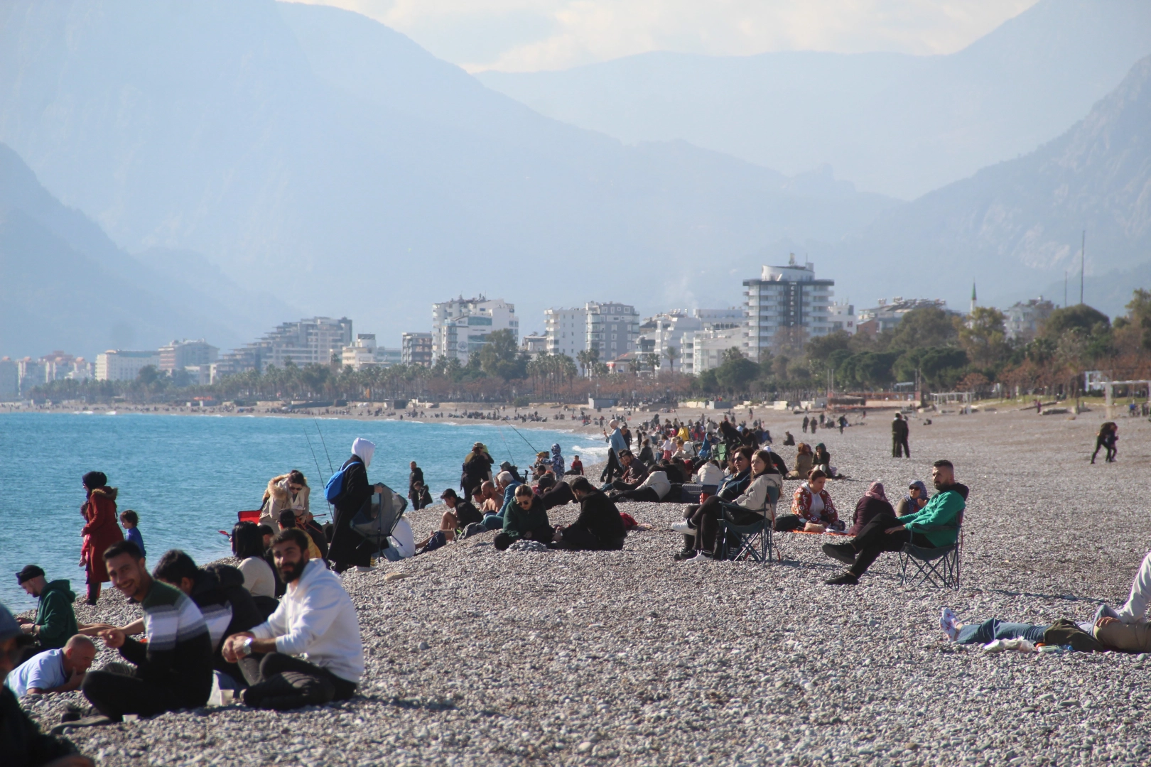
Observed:
[[[613,301],[588,301],[572,309],[547,309],[543,313],[548,352],[566,354],[573,360],[580,352],[597,350],[607,362],[635,351],[640,333],[640,314],[634,306]]]

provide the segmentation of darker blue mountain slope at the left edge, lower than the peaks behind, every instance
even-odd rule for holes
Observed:
[[[0,353],[155,348],[174,338],[251,340],[276,300],[197,253],[128,255],[0,144]],[[299,312],[299,309],[295,309]]]

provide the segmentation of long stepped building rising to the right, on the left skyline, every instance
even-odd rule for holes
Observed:
[[[257,342],[224,354],[216,363],[216,376],[245,370],[262,371],[269,365],[296,367],[330,365],[331,354],[342,355],[352,343],[352,321],[348,317],[312,317],[284,322]]]

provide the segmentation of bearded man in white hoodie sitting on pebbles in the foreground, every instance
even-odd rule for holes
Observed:
[[[288,592],[266,622],[231,635],[222,649],[251,684],[244,703],[288,710],[352,697],[364,674],[364,645],[340,576],[308,560],[298,528],[276,534],[272,552]]]

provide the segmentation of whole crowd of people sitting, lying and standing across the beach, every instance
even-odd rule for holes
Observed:
[[[78,690],[89,707],[64,713],[62,723],[70,727],[196,708],[215,691],[222,699],[227,691],[229,699],[247,706],[281,711],[348,699],[356,695],[365,667],[358,616],[341,574],[487,532],[495,532],[491,544],[497,551],[618,551],[628,531],[641,527],[619,511],[620,500],[684,505],[683,519],[672,524],[683,535],[683,547],[672,557],[680,562],[740,551],[739,542],[729,545],[726,537],[749,527],[759,526],[763,535],[831,534],[839,543],[824,543],[822,552],[847,567],[826,581],[831,585],[857,584],[884,552],[956,545],[969,490],[958,482],[951,461],[933,462],[933,494],[924,482],[912,480],[893,500],[882,483],[871,482],[848,520],[832,498],[829,483],[841,475],[826,446],[817,443],[813,450],[799,443],[788,470],[771,447],[770,432],[750,413],[749,421],[679,421],[656,414],[637,423],[634,431],[625,419],[603,422],[608,460],[596,483],[585,475],[580,457],[569,463],[558,444],[540,451],[521,475],[509,461],[496,467],[487,446],[475,443],[462,462],[459,492],[448,488],[439,496],[445,507],[440,528],[419,542],[402,513],[383,540],[357,531],[358,515],[373,497],[390,492],[369,482],[375,445],[358,438],[323,490],[334,508],[331,522],[321,526],[312,515],[303,473],[276,475],[267,483],[258,519],[242,520],[231,531],[235,566],[198,566],[185,552],[171,550],[150,572],[138,514],[117,514],[117,490],[106,475],[90,471],[82,478],[81,507],[87,604],[96,604],[101,584],[110,581],[139,606],[142,618],[127,626],[81,624],[69,581],[49,580],[37,565],[17,573],[38,607],[35,618],[17,621],[0,605],[0,672],[6,675],[0,753],[18,754],[13,764],[20,765],[90,764],[70,751],[67,741],[39,731],[20,708],[18,699],[26,696]],[[805,416],[802,432],[845,425],[844,420]],[[1115,431],[1108,422],[1099,432],[1097,451],[1106,448],[1107,460],[1113,459]],[[898,414],[892,440],[893,457],[909,455],[906,420]],[[800,484],[782,512],[785,480]],[[407,499],[414,509],[432,504],[416,461],[410,465]],[[567,526],[552,524],[548,512],[566,504],[579,506],[578,516]],[[939,626],[959,644],[1146,652],[1149,604],[1151,554],[1127,604],[1118,611],[1100,605],[1092,621],[961,622],[944,608]],[[97,642],[117,651],[122,661],[93,669]]]

